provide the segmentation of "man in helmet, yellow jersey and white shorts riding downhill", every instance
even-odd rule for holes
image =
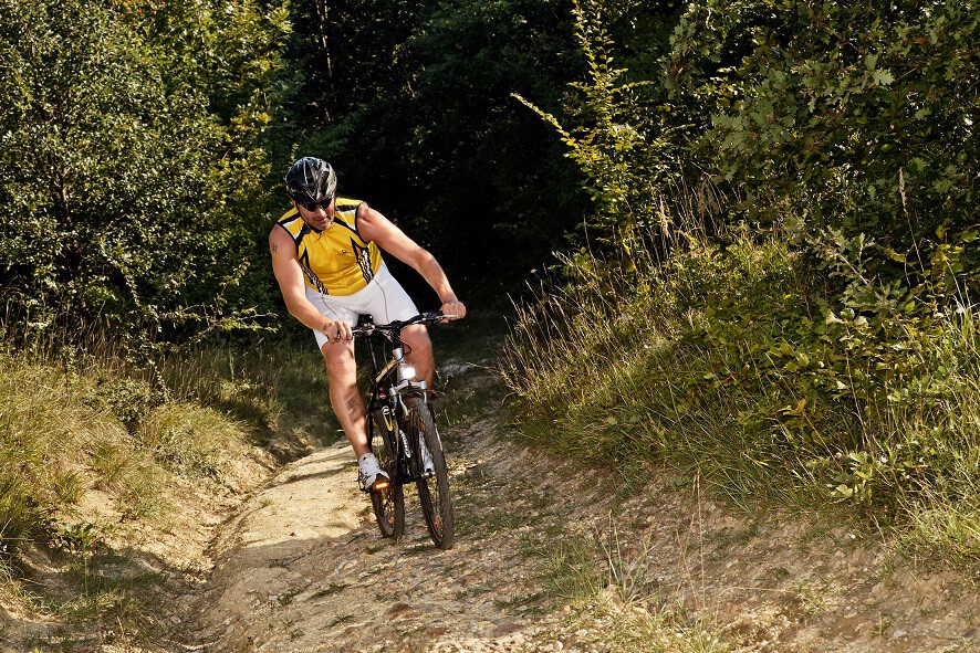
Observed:
[[[380,250],[414,267],[457,318],[466,306],[457,298],[436,259],[366,202],[336,194],[336,172],[322,159],[303,157],[285,175],[290,209],[272,228],[272,271],[286,309],[313,329],[326,362],[330,402],[361,470],[361,483],[374,487],[387,474],[367,446],[367,410],[357,389],[354,338],[358,315],[377,323],[418,314],[411,298],[388,272]],[[429,388],[436,366],[426,327],[402,333],[407,361]]]

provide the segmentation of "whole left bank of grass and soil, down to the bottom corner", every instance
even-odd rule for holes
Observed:
[[[138,645],[166,591],[148,569],[167,561],[131,558],[258,482],[269,452],[336,438],[321,357],[312,338],[165,356],[97,327],[32,328],[0,334],[0,598],[58,624],[38,645]],[[50,586],[24,581],[38,555],[58,569]]]

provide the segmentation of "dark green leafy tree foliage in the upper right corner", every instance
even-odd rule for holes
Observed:
[[[665,83],[710,114],[695,154],[750,219],[789,202],[817,227],[925,249],[942,224],[977,223],[978,20],[945,0],[691,4]]]

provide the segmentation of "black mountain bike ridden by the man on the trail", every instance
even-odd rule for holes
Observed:
[[[436,421],[428,402],[426,382],[416,379],[405,361],[402,329],[414,324],[435,324],[455,315],[424,313],[405,322],[366,322],[353,329],[367,341],[371,354],[371,400],[367,403],[367,442],[388,481],[375,483],[371,504],[383,537],[405,534],[405,485],[415,483],[429,536],[436,548],[452,546],[453,513],[449,475]],[[390,359],[378,366],[371,338],[380,334],[390,344]],[[428,464],[426,464],[428,463]]]

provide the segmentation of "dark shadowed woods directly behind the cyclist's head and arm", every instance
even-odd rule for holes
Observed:
[[[580,176],[511,93],[556,106],[581,65],[569,7],[344,0],[324,18],[322,6],[294,8],[290,154],[329,158],[342,192],[432,251],[460,293],[513,286],[563,246],[585,207]],[[409,291],[423,286],[413,274]]]

